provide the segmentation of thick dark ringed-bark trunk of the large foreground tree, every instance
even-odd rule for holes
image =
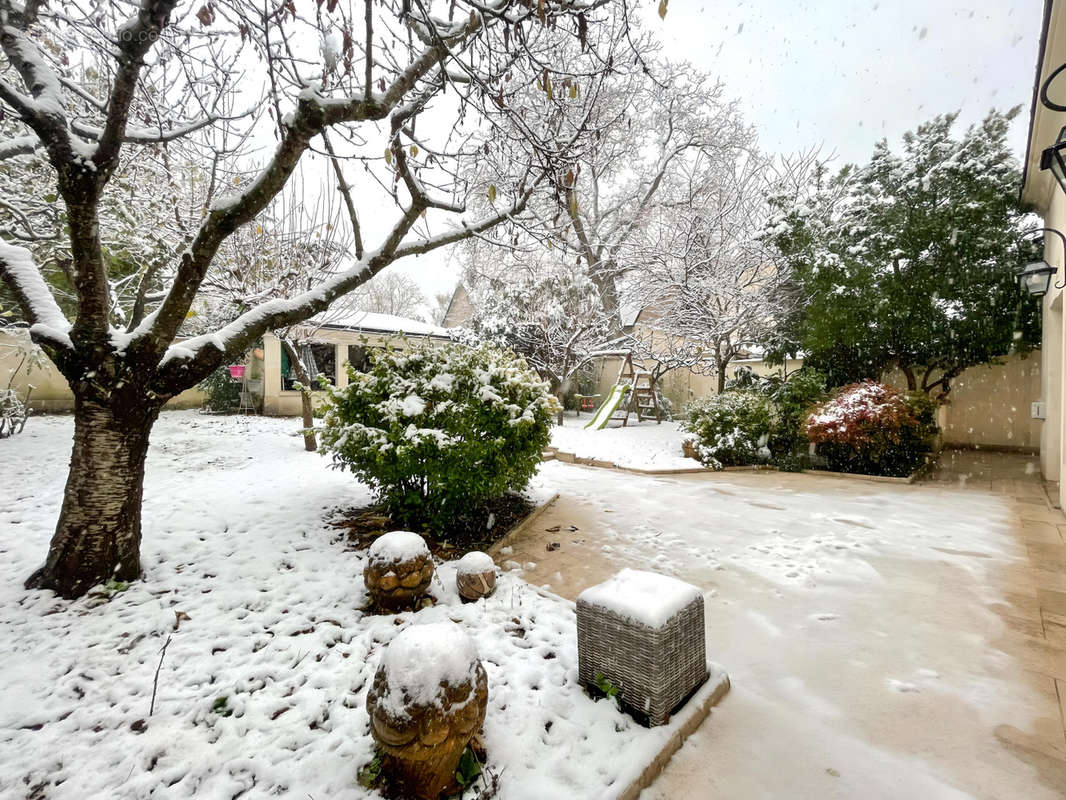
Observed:
[[[79,597],[110,579],[141,576],[141,499],[159,405],[75,398],[74,451],[55,533],[27,589]]]

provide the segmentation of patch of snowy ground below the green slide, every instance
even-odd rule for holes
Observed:
[[[636,422],[621,428],[588,430],[591,414],[575,417],[567,413],[562,426],[551,429],[551,446],[584,459],[610,461],[633,469],[692,469],[699,462],[681,453],[684,434],[678,422]]]

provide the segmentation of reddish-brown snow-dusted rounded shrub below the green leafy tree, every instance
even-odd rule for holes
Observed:
[[[936,405],[873,381],[837,389],[807,417],[807,436],[829,469],[905,476],[921,466],[936,434]]]

